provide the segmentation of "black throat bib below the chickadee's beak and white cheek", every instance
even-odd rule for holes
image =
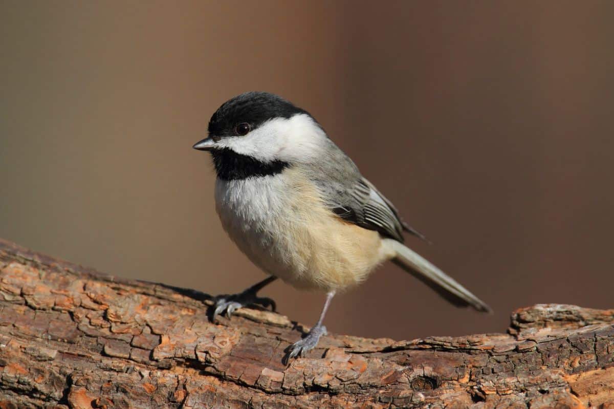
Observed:
[[[228,148],[211,150],[217,177],[224,181],[238,181],[248,177],[263,177],[281,173],[290,166],[281,160],[262,162]]]

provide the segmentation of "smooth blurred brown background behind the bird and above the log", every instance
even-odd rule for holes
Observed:
[[[505,329],[534,303],[612,307],[614,2],[0,3],[0,236],[115,275],[237,292],[210,115],[247,90],[308,109],[488,302],[394,265],[336,297],[336,333]],[[324,297],[276,282],[313,324]],[[204,317],[203,317],[204,319]]]

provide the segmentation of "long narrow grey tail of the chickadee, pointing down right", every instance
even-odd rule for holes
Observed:
[[[386,241],[396,254],[392,262],[424,282],[443,298],[456,306],[472,306],[478,311],[492,313],[491,308],[480,298],[473,295],[424,257],[396,240],[387,239]]]

